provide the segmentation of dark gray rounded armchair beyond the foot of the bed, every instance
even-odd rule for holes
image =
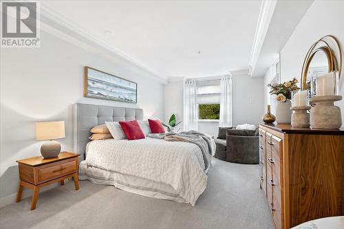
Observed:
[[[219,129],[219,136],[215,139],[215,157],[228,162],[259,164],[258,130],[220,128],[222,129]],[[226,139],[223,139],[224,131],[226,131]]]

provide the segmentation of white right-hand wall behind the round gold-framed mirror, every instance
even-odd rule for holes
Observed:
[[[336,36],[344,49],[344,1],[314,1],[281,50],[281,81],[301,79],[303,59],[310,46],[322,36]],[[340,94],[344,96],[344,73],[341,74]],[[344,124],[344,100],[341,107]]]

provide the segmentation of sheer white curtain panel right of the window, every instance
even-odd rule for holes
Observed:
[[[232,127],[232,79],[221,79],[219,127]]]

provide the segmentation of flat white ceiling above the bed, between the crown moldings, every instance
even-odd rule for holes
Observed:
[[[168,79],[247,70],[261,0],[45,1],[44,5]]]

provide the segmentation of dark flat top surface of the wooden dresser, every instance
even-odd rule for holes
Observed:
[[[274,131],[282,133],[308,133],[308,134],[330,134],[330,135],[344,135],[344,128],[341,129],[312,129],[309,127],[292,127],[291,124],[266,124],[259,123],[263,127],[267,127]]]

